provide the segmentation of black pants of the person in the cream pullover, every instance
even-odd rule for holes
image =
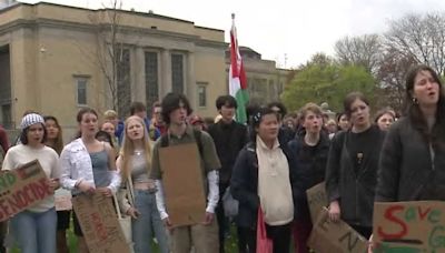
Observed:
[[[267,237],[273,241],[274,253],[289,252],[290,250],[290,224],[267,225]],[[238,227],[238,250],[240,253],[256,253],[257,251],[257,231],[247,227]],[[247,247],[239,249],[241,240]]]

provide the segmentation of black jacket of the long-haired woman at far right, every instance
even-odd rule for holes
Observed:
[[[376,201],[445,201],[445,136],[429,143],[408,118],[386,135],[378,170]]]

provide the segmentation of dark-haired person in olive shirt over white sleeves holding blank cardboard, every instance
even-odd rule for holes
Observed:
[[[169,93],[161,103],[162,119],[168,124],[167,134],[158,140],[154,148],[150,178],[156,180],[158,192],[157,206],[165,225],[171,231],[171,250],[175,253],[189,253],[191,246],[196,252],[219,252],[218,224],[215,220],[215,208],[219,201],[218,170],[221,166],[211,136],[202,131],[194,130],[187,124],[187,115],[191,109],[184,94]],[[197,143],[202,170],[202,180],[207,193],[206,216],[204,223],[175,226],[166,210],[162,191],[162,168],[159,161],[159,149],[168,145]],[[175,159],[175,158],[171,158]],[[187,189],[184,189],[187,191]]]

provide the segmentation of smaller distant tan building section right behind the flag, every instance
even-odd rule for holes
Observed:
[[[261,59],[261,54],[247,47],[240,47],[239,53],[247,75],[249,103],[265,104],[279,101],[279,95],[286,85],[290,70],[276,68],[275,61]],[[226,51],[226,64],[228,77],[230,68],[229,50]]]

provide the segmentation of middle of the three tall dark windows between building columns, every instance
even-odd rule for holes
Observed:
[[[146,52],[146,104],[147,111],[159,100],[158,53]]]

